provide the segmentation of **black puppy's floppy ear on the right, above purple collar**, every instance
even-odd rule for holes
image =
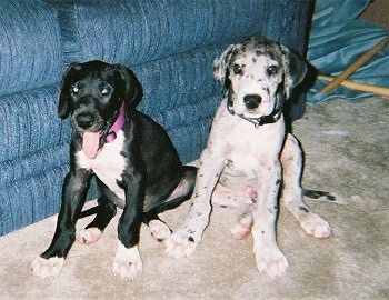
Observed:
[[[137,76],[130,70],[129,68],[117,64],[116,66],[119,76],[124,83],[124,101],[126,101],[126,109],[127,111],[133,109],[138,106],[140,100],[143,97],[143,89],[142,84],[140,84]]]

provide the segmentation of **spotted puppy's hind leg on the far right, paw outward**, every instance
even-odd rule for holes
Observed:
[[[328,238],[330,227],[326,220],[311,212],[303,201],[301,189],[302,153],[298,140],[288,134],[281,152],[283,168],[282,202],[300,222],[302,229],[312,237]]]

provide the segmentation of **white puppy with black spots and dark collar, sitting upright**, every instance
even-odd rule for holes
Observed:
[[[253,37],[230,46],[213,68],[227,94],[200,157],[190,213],[168,239],[166,251],[176,258],[191,254],[209,222],[211,203],[220,204],[238,210],[239,221],[231,229],[237,239],[251,232],[258,270],[282,276],[288,261],[276,241],[281,187],[285,206],[308,234],[330,234],[327,221],[303,201],[302,153],[297,139],[286,132],[282,114],[307,64],[286,47]]]

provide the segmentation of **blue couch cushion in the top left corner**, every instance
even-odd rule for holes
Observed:
[[[2,0],[0,11],[0,96],[58,82],[63,60],[57,11],[38,0]]]

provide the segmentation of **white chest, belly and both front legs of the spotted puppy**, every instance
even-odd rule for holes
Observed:
[[[281,178],[278,153],[283,143],[283,132],[282,118],[279,122],[257,128],[230,114],[227,99],[222,101],[212,123],[208,147],[200,157],[192,209],[183,227],[168,239],[168,254],[179,258],[194,251],[209,221],[210,199],[215,203],[213,194],[217,193],[218,203],[252,216],[258,228],[252,236],[259,271],[269,276],[286,272],[288,262],[276,243],[277,209],[273,209],[279,189],[276,182]],[[221,193],[229,190],[237,197],[222,200],[218,192],[220,189]],[[256,199],[251,199],[248,190],[256,192]]]

